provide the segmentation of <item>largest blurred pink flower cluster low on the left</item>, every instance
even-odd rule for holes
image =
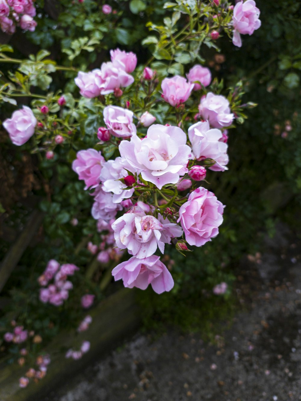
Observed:
[[[67,280],[67,276],[73,275],[79,268],[73,264],[67,263],[59,265],[59,263],[51,259],[44,273],[39,277],[38,281],[41,286],[47,286],[48,282],[53,279],[53,283],[47,288],[40,289],[40,301],[45,304],[60,306],[69,297],[69,290],[73,288],[73,284]]]

